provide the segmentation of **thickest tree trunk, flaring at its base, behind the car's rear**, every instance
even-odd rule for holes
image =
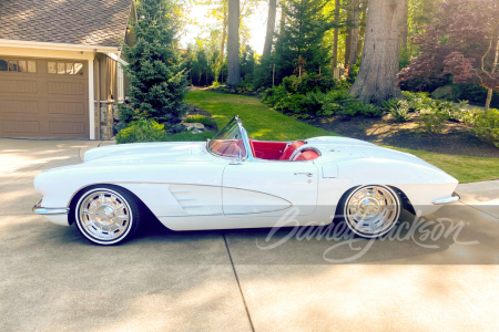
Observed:
[[[380,105],[401,97],[397,73],[405,3],[405,0],[369,0],[363,61],[348,91],[365,104]]]

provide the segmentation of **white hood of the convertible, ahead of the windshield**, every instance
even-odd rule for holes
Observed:
[[[167,163],[205,160],[205,142],[134,143],[92,148],[84,163]]]

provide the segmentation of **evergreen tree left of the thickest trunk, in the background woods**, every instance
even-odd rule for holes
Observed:
[[[293,73],[299,56],[306,61],[309,72],[318,73],[319,66],[324,71],[328,65],[328,50],[322,46],[325,32],[333,27],[323,10],[326,3],[325,0],[288,0],[284,3],[286,24],[275,45],[279,79]]]

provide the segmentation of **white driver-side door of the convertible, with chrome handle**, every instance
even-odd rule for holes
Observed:
[[[317,204],[317,167],[310,162],[245,160],[225,166],[222,181],[226,217],[282,216],[297,207],[310,215]]]

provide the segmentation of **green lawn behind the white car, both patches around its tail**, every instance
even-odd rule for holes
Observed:
[[[262,104],[255,97],[193,91],[187,94],[185,101],[210,112],[215,118],[218,128],[223,128],[234,115],[240,115],[249,136],[256,139],[293,141],[314,136],[337,135],[281,114]],[[499,178],[498,158],[444,155],[409,148],[387,147],[414,154],[444,169],[460,183]]]

